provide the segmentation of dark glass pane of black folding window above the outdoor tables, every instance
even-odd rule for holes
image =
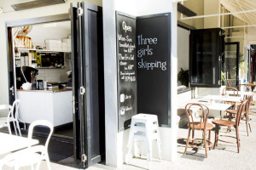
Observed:
[[[216,84],[217,59],[214,37],[211,31],[194,34],[191,83],[197,85]]]

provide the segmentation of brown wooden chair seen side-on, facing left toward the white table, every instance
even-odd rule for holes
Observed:
[[[217,144],[218,144],[218,140],[222,141],[222,142],[226,142],[226,143],[233,143],[230,141],[225,141],[222,139],[218,139],[219,136],[224,136],[224,137],[230,137],[230,138],[235,138],[236,139],[236,144],[237,144],[237,151],[239,153],[239,148],[240,148],[240,139],[239,139],[239,123],[240,123],[240,119],[241,119],[241,111],[244,110],[245,105],[247,104],[247,100],[242,102],[239,110],[236,113],[236,122],[232,122],[229,120],[214,120],[212,121],[212,123],[215,124],[215,141],[214,141],[214,147],[213,149],[216,148]],[[236,128],[236,137],[234,136],[230,136],[230,135],[219,135],[218,133],[218,127],[220,126],[224,126],[224,127],[235,127]]]

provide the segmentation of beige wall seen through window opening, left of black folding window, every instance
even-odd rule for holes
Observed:
[[[177,27],[177,72],[189,70],[189,31]]]

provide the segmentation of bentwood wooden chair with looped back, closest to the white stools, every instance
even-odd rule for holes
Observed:
[[[194,122],[193,111],[195,111],[195,108],[200,109],[201,116],[200,116],[200,122]],[[209,116],[209,109],[206,105],[201,104],[195,104],[195,103],[189,103],[185,106],[185,111],[189,120],[188,127],[189,127],[189,134],[188,139],[186,142],[186,148],[184,150],[184,154],[187,152],[188,146],[193,148],[205,148],[206,150],[206,156],[207,156],[207,148],[211,150],[212,142],[211,142],[211,130],[213,128],[211,123],[207,123],[207,119]],[[190,139],[190,131],[192,130],[192,139]],[[204,146],[197,146],[194,144],[195,141],[195,130],[202,131],[203,132],[203,139],[200,139],[203,141]],[[207,140],[207,131],[209,131],[209,137]],[[189,144],[189,141],[192,141],[192,144]]]

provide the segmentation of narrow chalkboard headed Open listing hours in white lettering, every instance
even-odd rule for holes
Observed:
[[[116,12],[119,132],[137,114],[136,18]]]

